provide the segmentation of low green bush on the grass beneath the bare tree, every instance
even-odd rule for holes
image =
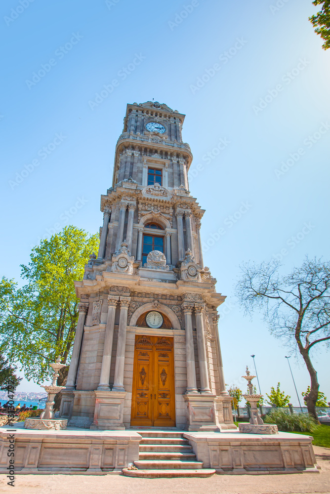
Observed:
[[[284,410],[273,410],[265,416],[265,423],[277,424],[284,432],[313,432],[318,424],[308,413],[288,413]]]

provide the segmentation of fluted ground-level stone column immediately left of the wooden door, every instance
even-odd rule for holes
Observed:
[[[112,391],[125,391],[124,388],[124,363],[125,363],[125,345],[126,345],[126,329],[127,329],[127,312],[129,307],[130,297],[121,297],[121,314],[119,318],[117,354],[115,378]]]

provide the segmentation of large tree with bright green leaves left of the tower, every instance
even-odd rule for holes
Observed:
[[[0,351],[21,365],[28,380],[49,378],[49,364],[59,355],[67,363],[79,315],[74,281],[82,279],[98,244],[97,234],[67,226],[32,249],[28,266],[21,265],[26,285],[19,288],[5,278],[0,282]],[[59,385],[67,371],[68,366]]]

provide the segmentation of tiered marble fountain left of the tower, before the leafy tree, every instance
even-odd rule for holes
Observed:
[[[68,420],[64,418],[55,418],[53,412],[54,398],[55,395],[65,388],[65,386],[56,386],[56,380],[59,376],[58,371],[65,367],[65,364],[61,364],[61,357],[59,357],[55,363],[50,364],[50,367],[54,370],[53,381],[50,386],[42,386],[42,388],[47,391],[47,401],[44,411],[41,413],[40,417],[28,417],[25,419],[24,428],[25,429],[66,429],[68,425]]]

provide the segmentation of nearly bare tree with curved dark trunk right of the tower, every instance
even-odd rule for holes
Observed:
[[[311,378],[307,409],[318,420],[319,383],[311,350],[330,341],[330,262],[306,256],[289,275],[280,275],[279,268],[276,260],[244,264],[237,295],[246,312],[263,310],[271,333],[299,350]]]

